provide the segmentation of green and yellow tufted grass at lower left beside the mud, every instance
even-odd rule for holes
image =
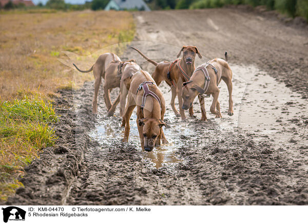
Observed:
[[[22,186],[23,167],[56,137],[48,124],[57,121],[52,104],[36,97],[0,101],[0,200]]]

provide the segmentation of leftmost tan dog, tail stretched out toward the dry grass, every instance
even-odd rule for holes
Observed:
[[[127,62],[136,62],[129,60]],[[97,114],[98,111],[98,92],[102,83],[102,78],[105,79],[104,83],[104,100],[107,107],[107,111],[111,108],[110,91],[115,87],[120,87],[121,76],[118,74],[118,70],[125,62],[122,62],[118,55],[114,53],[104,53],[100,55],[97,61],[92,65],[89,70],[81,70],[75,64],[75,68],[80,72],[90,72],[93,70],[94,74],[94,97],[93,97],[93,114]],[[120,101],[120,95],[115,100],[115,106]],[[118,103],[116,103],[118,102]]]

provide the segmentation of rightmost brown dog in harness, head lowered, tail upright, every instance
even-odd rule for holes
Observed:
[[[192,74],[188,82],[183,83],[182,98],[183,109],[191,107],[195,98],[198,95],[200,107],[201,107],[201,121],[206,121],[206,112],[204,108],[204,97],[209,95],[213,96],[213,102],[210,106],[212,114],[216,115],[216,118],[222,118],[220,113],[220,105],[218,102],[219,88],[218,84],[223,80],[229,92],[229,109],[228,115],[233,115],[233,100],[232,100],[232,70],[227,63],[227,52],[225,52],[225,58],[213,59],[207,63],[200,65]],[[207,96],[206,96],[207,95]],[[217,110],[216,110],[217,109]]]

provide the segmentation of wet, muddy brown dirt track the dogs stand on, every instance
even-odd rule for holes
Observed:
[[[308,204],[308,29],[282,23],[272,14],[237,9],[136,12],[134,17],[137,36],[131,45],[156,61],[175,60],[182,45],[199,48],[204,57],[197,65],[227,50],[235,115],[227,116],[222,83],[224,118],[209,113],[209,98],[207,122],[198,120],[198,103],[197,119],[181,122],[169,105],[169,88],[162,84],[171,144],[145,153],[134,118],[129,143],[121,142],[119,110],[106,117],[102,91],[99,116],[91,116],[93,83],[73,97],[63,91],[56,103],[69,118],[56,130],[65,138],[27,168],[25,189],[7,203]],[[126,58],[153,70],[130,49]],[[113,100],[117,94],[112,91]]]

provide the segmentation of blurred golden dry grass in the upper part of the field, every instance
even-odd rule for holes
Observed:
[[[134,24],[129,12],[16,12],[1,14],[0,32],[0,96],[7,100],[21,90],[48,96],[59,86],[72,86],[73,71],[58,61],[65,58],[61,52],[90,55],[131,41]],[[89,79],[92,74],[78,80]]]

